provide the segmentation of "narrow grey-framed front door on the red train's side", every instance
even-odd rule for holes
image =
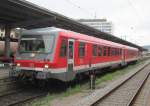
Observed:
[[[73,71],[74,68],[74,40],[68,40],[68,58],[67,58],[67,70]]]

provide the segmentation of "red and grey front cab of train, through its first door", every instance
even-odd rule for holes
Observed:
[[[62,39],[60,39],[58,31],[52,34],[48,33],[48,35],[37,34],[36,31],[31,31],[31,33],[29,31],[27,34],[24,33],[20,38],[19,49],[14,60],[13,70],[10,71],[10,77],[29,79],[53,78],[62,81],[69,81],[74,78],[74,39],[67,39],[67,45],[63,48],[61,44]],[[21,46],[24,46],[24,51],[21,50]],[[33,49],[35,46],[38,47],[38,50]],[[39,46],[42,52],[39,50]],[[64,52],[67,51],[67,53],[66,56],[60,59],[59,52],[61,52],[61,49]],[[45,52],[46,50],[48,52]]]

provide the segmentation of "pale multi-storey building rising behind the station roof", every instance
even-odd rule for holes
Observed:
[[[102,32],[113,34],[112,22],[108,22],[106,19],[79,19],[77,21]]]

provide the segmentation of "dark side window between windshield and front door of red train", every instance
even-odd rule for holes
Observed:
[[[67,40],[63,39],[60,48],[60,57],[65,57],[67,55]]]

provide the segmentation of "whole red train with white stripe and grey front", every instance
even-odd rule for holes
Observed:
[[[70,81],[91,70],[137,61],[139,50],[55,27],[22,32],[11,77]]]

